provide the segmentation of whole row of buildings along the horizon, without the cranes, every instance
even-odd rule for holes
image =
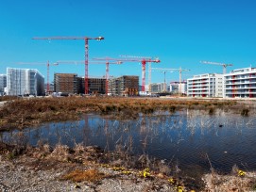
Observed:
[[[84,92],[84,77],[77,73],[54,73],[54,92],[80,94]],[[139,76],[123,75],[111,77],[106,86],[106,77],[89,78],[90,94],[138,95]],[[146,86],[148,92],[148,85]],[[8,68],[7,74],[0,74],[0,95],[45,94],[44,77],[35,69]],[[197,74],[183,81],[151,84],[152,93],[181,93],[188,97],[256,98],[256,68],[242,68],[227,74]]]

